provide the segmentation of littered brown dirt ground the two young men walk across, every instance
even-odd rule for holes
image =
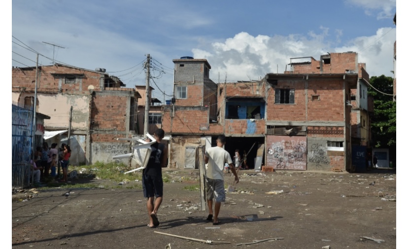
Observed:
[[[395,171],[368,173],[240,171],[234,193],[227,193],[217,226],[205,220],[198,170],[166,171],[158,228],[148,228],[146,201],[134,181],[94,180],[98,188],[53,188],[13,195],[12,247],[19,248],[283,248],[395,249]],[[125,177],[124,177],[125,178]],[[184,179],[184,180],[183,180]],[[182,182],[180,182],[183,180]],[[226,185],[233,177],[226,174]],[[369,183],[375,181],[374,186]],[[75,179],[72,180],[75,182]],[[192,190],[183,189],[191,186]],[[275,191],[275,192],[273,192]],[[272,193],[268,193],[272,192]],[[18,201],[21,195],[33,195]],[[204,241],[207,245],[162,232]],[[383,240],[376,243],[361,239]],[[252,245],[254,240],[282,238]]]

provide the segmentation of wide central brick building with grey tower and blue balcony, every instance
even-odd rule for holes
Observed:
[[[351,167],[350,96],[357,73],[269,73],[260,81],[215,84],[207,60],[173,62],[175,103],[162,117],[171,136],[170,168],[196,168],[198,146],[214,146],[220,134],[231,155],[254,145],[251,168]]]

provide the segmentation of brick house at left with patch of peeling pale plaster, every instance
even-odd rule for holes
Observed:
[[[72,106],[71,164],[111,161],[112,156],[130,151],[129,142],[116,138],[135,134],[140,95],[124,86],[104,69],[93,71],[61,64],[38,67],[37,109],[51,117],[44,120],[45,131],[68,131]],[[13,101],[31,101],[34,88],[35,67],[12,69]],[[61,138],[56,141],[59,145],[67,143],[67,135]]]

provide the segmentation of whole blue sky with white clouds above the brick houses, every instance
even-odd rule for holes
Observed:
[[[150,54],[166,73],[154,97],[172,92],[172,59],[205,58],[210,78],[259,79],[282,73],[289,58],[355,51],[371,76],[393,76],[395,0],[36,0],[12,1],[12,36],[39,53],[86,69],[105,68],[127,87],[144,84]],[[20,41],[12,38],[12,41]],[[24,46],[24,45],[23,45]],[[35,53],[12,43],[13,66]],[[32,61],[23,58],[27,57]],[[17,62],[16,62],[17,61]],[[51,60],[42,56],[41,65]],[[159,64],[161,63],[161,64]],[[23,65],[24,64],[24,65]],[[138,66],[136,66],[138,65]],[[134,67],[136,66],[136,67]],[[134,67],[134,68],[132,68]],[[128,71],[123,71],[132,68]],[[121,71],[121,72],[116,72]],[[158,71],[153,71],[158,76]]]

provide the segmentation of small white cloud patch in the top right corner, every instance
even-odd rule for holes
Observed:
[[[397,7],[396,0],[345,0],[345,3],[365,8],[366,15],[372,15],[374,10],[379,10],[377,19],[394,16]]]

